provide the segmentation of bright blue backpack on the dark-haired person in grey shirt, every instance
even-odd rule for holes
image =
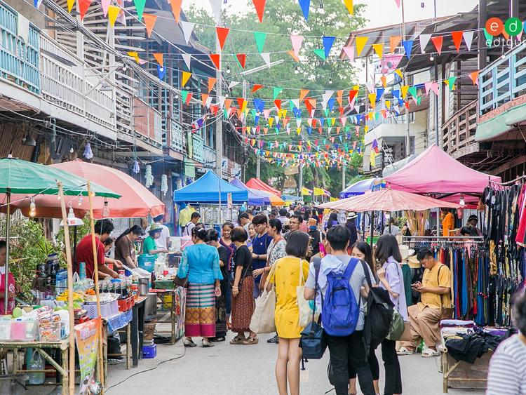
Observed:
[[[325,333],[331,336],[349,336],[356,329],[360,304],[354,297],[349,279],[360,262],[349,260],[342,274],[330,272],[327,275],[327,291],[321,311],[321,322]]]

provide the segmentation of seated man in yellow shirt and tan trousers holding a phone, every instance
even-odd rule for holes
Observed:
[[[422,294],[422,301],[407,308],[411,340],[401,342],[398,355],[413,354],[423,338],[426,349],[422,352],[422,357],[428,358],[440,355],[436,344],[440,340],[443,308],[451,307],[451,272],[446,265],[435,259],[429,249],[420,250],[417,258],[425,270],[422,283],[414,283],[412,289]]]

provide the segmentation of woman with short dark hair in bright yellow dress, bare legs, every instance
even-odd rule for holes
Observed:
[[[287,255],[276,260],[270,279],[276,287],[274,320],[279,337],[276,381],[280,395],[288,395],[287,381],[290,395],[299,394],[299,362],[302,359],[299,337],[304,328],[298,325],[296,287],[304,286],[309,275],[309,262],[304,260],[309,250],[309,241],[308,234],[291,232],[285,247]]]

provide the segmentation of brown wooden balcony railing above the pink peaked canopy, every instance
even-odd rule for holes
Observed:
[[[478,100],[473,100],[453,114],[442,126],[444,150],[454,158],[471,153],[470,147],[478,147],[475,141],[477,105]]]

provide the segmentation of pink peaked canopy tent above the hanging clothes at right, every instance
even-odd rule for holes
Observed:
[[[385,178],[386,185],[392,189],[437,195],[481,194],[490,180],[501,182],[500,177],[464,166],[434,144]]]

